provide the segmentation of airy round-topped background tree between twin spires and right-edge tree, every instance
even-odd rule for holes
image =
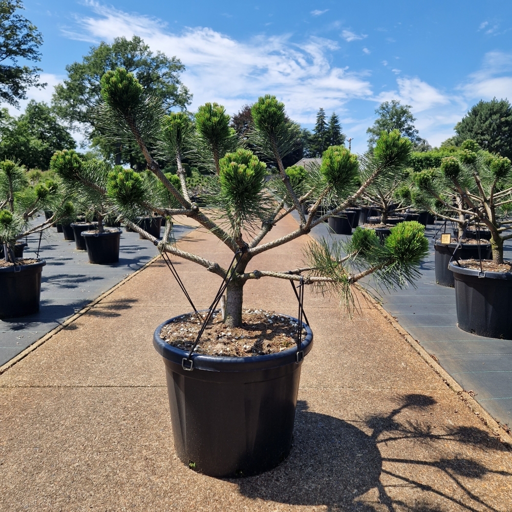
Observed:
[[[414,127],[416,119],[411,114],[411,105],[401,105],[399,101],[391,100],[381,103],[375,114],[378,118],[366,133],[368,146],[373,148],[382,132],[398,130],[402,137],[407,137],[413,144],[422,144],[424,139],[418,136],[418,130]]]

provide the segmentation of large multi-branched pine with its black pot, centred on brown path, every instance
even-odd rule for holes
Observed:
[[[288,315],[244,310],[244,285],[250,280],[261,280],[263,287],[267,279],[292,281],[336,293],[350,308],[353,289],[361,288],[359,282],[367,275],[389,286],[414,279],[428,244],[423,226],[410,222],[396,226],[385,243],[373,231],[360,228],[343,245],[311,242],[300,269],[256,269],[251,261],[306,235],[353,204],[377,177],[404,165],[411,143],[397,131],[382,133],[371,159],[361,161],[343,146],[331,148],[329,164],[312,173],[309,189],[297,194],[282,162],[297,146],[300,130],[274,96],[261,97],[252,106],[254,151],[249,151],[232,147],[229,116],[219,105],[200,109],[202,126],[208,130],[198,130],[185,113],[165,115],[124,69],[106,73],[101,88],[102,133],[135,141],[154,177],[147,180],[131,169],[115,167],[101,189],[105,201],[163,253],[194,262],[225,283],[224,299],[218,294],[209,312],[183,312],[154,334],[154,346],[165,364],[177,454],[189,467],[212,476],[265,471],[290,450],[300,372],[313,333]],[[160,169],[148,149],[150,142],[176,162],[174,181]],[[185,153],[192,158],[198,151],[197,159],[209,161],[212,171],[199,198],[201,207],[190,197],[181,163]],[[267,180],[259,156],[275,162],[278,177]],[[67,166],[71,154],[62,157]],[[88,186],[75,180],[75,174],[68,177],[77,186]],[[311,203],[307,219],[305,201]],[[315,218],[322,204],[334,206]],[[159,241],[134,222],[144,211],[196,220],[232,252],[232,263],[226,267],[169,243],[170,223]],[[292,211],[300,218],[297,227],[284,237],[264,240]]]

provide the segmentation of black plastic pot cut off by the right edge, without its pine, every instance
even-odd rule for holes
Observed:
[[[457,325],[463,331],[512,339],[512,273],[480,272],[450,263]]]

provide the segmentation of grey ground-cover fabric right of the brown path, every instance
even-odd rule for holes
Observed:
[[[441,229],[438,223],[437,229]],[[333,240],[345,235],[316,226],[311,235]],[[420,266],[416,288],[388,291],[381,295],[382,306],[422,347],[436,357],[440,365],[465,390],[503,425],[512,428],[512,340],[477,336],[457,327],[455,289],[436,284],[435,227],[428,226],[425,236],[429,255]],[[504,246],[505,258],[512,259],[512,243]],[[371,282],[371,280],[369,280]]]

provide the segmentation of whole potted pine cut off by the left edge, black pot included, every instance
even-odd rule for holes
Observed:
[[[29,225],[37,211],[45,207],[55,213],[45,222]],[[66,218],[71,207],[59,195],[54,181],[30,186],[23,166],[12,160],[0,162],[0,318],[39,310],[41,272],[46,262],[23,258],[26,244],[20,241]]]

